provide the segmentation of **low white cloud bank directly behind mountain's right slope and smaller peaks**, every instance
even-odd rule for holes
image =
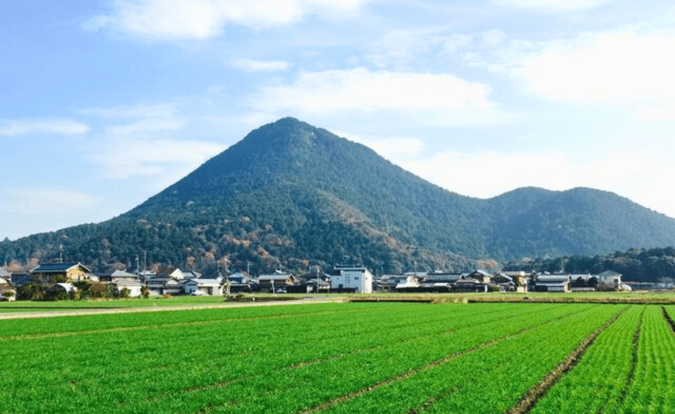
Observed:
[[[641,149],[613,149],[597,154],[591,161],[553,150],[529,153],[487,150],[443,151],[431,157],[394,159],[394,162],[429,182],[471,197],[495,197],[525,186],[549,190],[583,186],[616,192],[675,217],[675,194],[665,190],[664,181],[657,178],[673,174],[672,151],[667,147],[654,144]],[[654,178],[645,180],[645,171]]]

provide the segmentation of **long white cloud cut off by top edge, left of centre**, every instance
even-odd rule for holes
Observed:
[[[109,15],[82,25],[113,28],[142,38],[186,40],[213,38],[227,24],[269,28],[306,16],[334,18],[357,11],[371,0],[115,0]]]

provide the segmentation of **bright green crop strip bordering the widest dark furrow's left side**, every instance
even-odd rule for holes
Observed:
[[[329,407],[325,412],[405,414],[416,410],[429,413],[504,413],[517,403],[517,395],[531,388],[529,384],[539,382],[579,342],[613,317],[618,309],[614,306],[584,307],[585,313],[570,315],[570,311],[580,309],[573,306],[564,305],[558,310],[566,313],[556,312],[558,317],[551,317],[548,323],[533,327],[528,332],[421,370],[404,380],[385,384]],[[493,315],[498,319],[497,313]],[[547,346],[549,341],[555,346]]]

